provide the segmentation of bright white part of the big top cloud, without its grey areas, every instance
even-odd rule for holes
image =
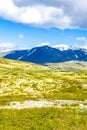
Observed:
[[[20,7],[15,5],[13,0],[0,0],[0,17],[43,27],[67,28],[70,23],[70,18],[64,14],[62,8],[39,5],[39,3]]]

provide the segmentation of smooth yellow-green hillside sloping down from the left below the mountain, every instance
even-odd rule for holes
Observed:
[[[15,61],[5,58],[0,58],[0,69],[16,69],[16,70],[45,70],[47,67],[22,61]],[[14,70],[15,71],[15,70]]]

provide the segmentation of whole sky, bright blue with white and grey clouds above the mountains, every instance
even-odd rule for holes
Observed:
[[[87,49],[87,0],[0,0],[0,51],[41,45]]]

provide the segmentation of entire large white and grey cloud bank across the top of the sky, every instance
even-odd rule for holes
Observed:
[[[87,29],[87,0],[0,0],[0,17],[34,26]]]

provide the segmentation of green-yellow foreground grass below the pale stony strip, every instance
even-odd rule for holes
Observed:
[[[0,130],[86,130],[87,111],[33,108],[0,110]]]

